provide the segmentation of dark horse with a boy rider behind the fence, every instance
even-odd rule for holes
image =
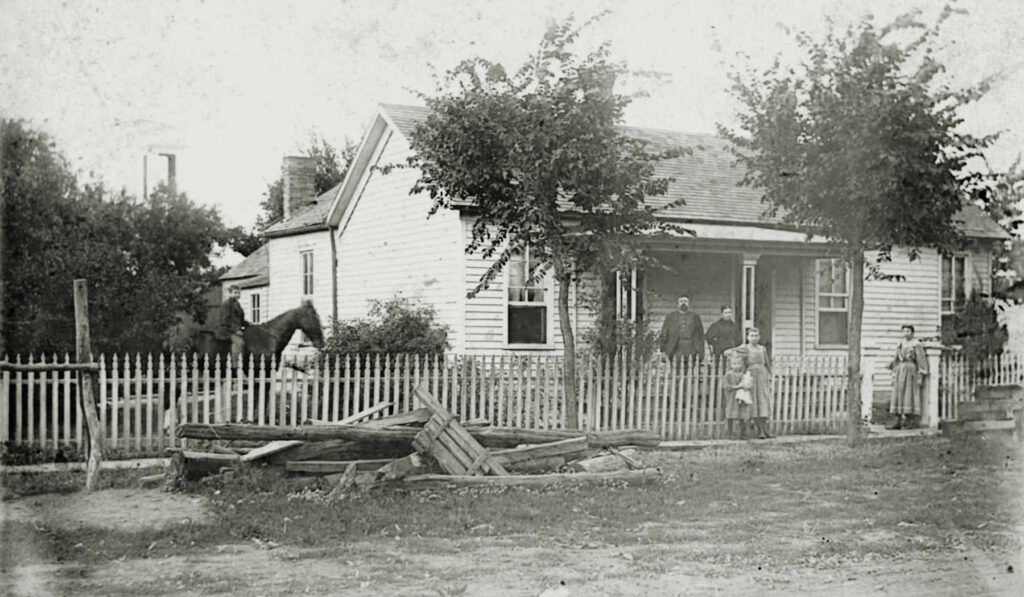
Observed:
[[[246,365],[252,355],[257,363],[260,357],[281,363],[281,353],[292,339],[296,330],[302,330],[317,349],[324,347],[324,329],[319,315],[309,301],[302,306],[285,311],[265,324],[252,324],[242,334],[246,341],[244,352]],[[213,332],[201,332],[196,338],[196,352],[210,356],[224,357],[231,353],[230,340],[218,340]]]

